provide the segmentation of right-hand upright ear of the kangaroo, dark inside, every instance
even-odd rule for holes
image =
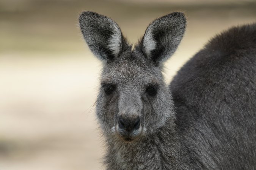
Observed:
[[[186,28],[182,12],[173,12],[153,21],[136,47],[156,65],[176,51]]]

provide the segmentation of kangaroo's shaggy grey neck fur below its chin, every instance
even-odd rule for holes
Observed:
[[[108,169],[179,169],[182,152],[177,141],[175,133],[164,128],[138,141],[108,140],[105,162]]]

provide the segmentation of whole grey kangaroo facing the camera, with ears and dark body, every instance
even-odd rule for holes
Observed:
[[[210,40],[164,82],[186,28],[182,12],[154,20],[132,48],[112,19],[79,17],[103,63],[96,114],[107,170],[256,169],[256,23]]]

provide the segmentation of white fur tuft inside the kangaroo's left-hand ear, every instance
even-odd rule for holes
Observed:
[[[108,39],[108,48],[112,51],[112,54],[117,57],[121,50],[122,34],[119,27],[113,24],[113,34]]]

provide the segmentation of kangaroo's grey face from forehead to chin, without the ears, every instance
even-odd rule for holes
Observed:
[[[161,70],[138,54],[129,50],[123,54],[127,57],[104,67],[97,100],[102,127],[126,141],[159,127],[168,116],[156,107],[170,98]]]

